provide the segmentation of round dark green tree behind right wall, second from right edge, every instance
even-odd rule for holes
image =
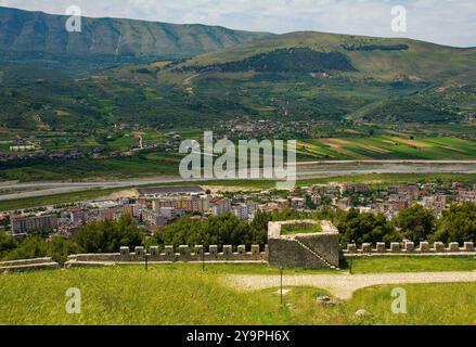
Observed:
[[[403,236],[415,243],[427,241],[436,230],[433,211],[417,204],[402,210],[394,221]]]

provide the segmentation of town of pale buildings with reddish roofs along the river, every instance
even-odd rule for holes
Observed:
[[[224,213],[241,221],[253,221],[258,210],[266,213],[285,209],[316,211],[322,208],[382,214],[387,219],[398,217],[414,204],[440,217],[453,203],[476,203],[476,184],[411,183],[374,187],[372,184],[329,184],[300,187],[292,191],[245,190],[211,191],[202,187],[139,188],[127,191],[119,198],[78,202],[67,206],[34,208],[22,213],[0,215],[0,228],[12,235],[24,237],[35,231],[48,231],[66,239],[81,227],[123,215],[134,217],[141,229],[152,234],[181,217],[206,219]]]

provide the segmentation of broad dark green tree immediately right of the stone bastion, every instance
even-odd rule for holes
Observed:
[[[352,242],[361,245],[363,243],[401,241],[401,235],[384,215],[361,214],[356,208],[350,209],[339,219],[337,229],[340,232],[343,247]]]

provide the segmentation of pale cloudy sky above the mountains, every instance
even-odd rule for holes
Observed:
[[[476,0],[0,0],[0,5],[65,14],[69,5],[91,17],[201,23],[283,34],[313,30],[408,37],[476,47]],[[395,7],[406,31],[395,31]],[[399,22],[402,24],[402,22]],[[400,26],[402,28],[402,26]]]

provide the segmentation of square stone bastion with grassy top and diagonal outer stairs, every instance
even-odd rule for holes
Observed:
[[[299,233],[299,227],[316,226],[319,232]],[[293,227],[296,232],[284,234]],[[336,269],[339,266],[339,233],[330,221],[291,220],[268,226],[269,265],[283,269]]]

